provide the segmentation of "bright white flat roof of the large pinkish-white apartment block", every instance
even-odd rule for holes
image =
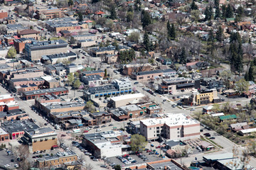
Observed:
[[[167,115],[167,118],[150,118],[146,120],[141,120],[141,122],[146,126],[159,125],[159,124],[176,126],[176,125],[193,125],[193,124],[199,123],[197,120],[193,118],[188,118],[183,113],[178,113],[178,114],[167,113],[166,115]]]

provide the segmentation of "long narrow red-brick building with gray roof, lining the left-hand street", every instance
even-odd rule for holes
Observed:
[[[31,100],[46,94],[65,95],[68,94],[68,89],[65,89],[65,87],[56,87],[52,89],[40,89],[36,91],[23,91],[22,97],[24,100]]]

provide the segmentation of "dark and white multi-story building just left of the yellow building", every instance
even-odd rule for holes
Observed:
[[[159,84],[160,94],[178,94],[188,93],[197,88],[200,88],[200,81],[193,79],[179,77],[172,79],[163,79],[162,83]]]

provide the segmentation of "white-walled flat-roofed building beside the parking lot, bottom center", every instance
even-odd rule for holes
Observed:
[[[82,137],[82,145],[97,158],[129,154],[131,147],[123,145],[119,136],[121,136],[119,131],[86,134]]]

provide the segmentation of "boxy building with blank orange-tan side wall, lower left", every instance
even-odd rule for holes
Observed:
[[[57,133],[50,128],[26,130],[21,140],[28,145],[30,152],[49,150],[57,144]]]

